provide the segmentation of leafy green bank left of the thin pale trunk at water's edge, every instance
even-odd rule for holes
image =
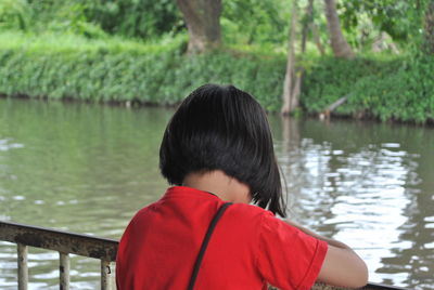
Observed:
[[[50,45],[54,39],[68,44]],[[224,51],[186,56],[182,38],[164,45],[59,36],[12,40],[0,49],[0,93],[7,95],[173,105],[194,88],[216,82],[247,90],[268,110],[281,103],[285,60],[280,56]]]

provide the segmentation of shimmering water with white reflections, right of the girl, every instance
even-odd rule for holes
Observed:
[[[275,135],[290,213],[354,247],[367,261],[371,281],[433,289],[433,133],[283,120],[282,134]]]

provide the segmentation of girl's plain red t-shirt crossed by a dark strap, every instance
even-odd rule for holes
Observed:
[[[187,289],[210,220],[222,203],[213,194],[176,186],[140,210],[120,239],[117,288]],[[194,289],[255,290],[267,284],[310,289],[327,247],[270,211],[234,203],[213,233]]]

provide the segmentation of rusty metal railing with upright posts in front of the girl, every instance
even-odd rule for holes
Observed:
[[[18,290],[27,290],[27,247],[58,251],[60,289],[69,289],[69,254],[101,260],[101,289],[111,289],[111,263],[116,261],[118,241],[51,228],[0,221],[0,240],[17,245]],[[368,284],[363,290],[409,290],[400,287]],[[312,290],[344,290],[317,284]]]

